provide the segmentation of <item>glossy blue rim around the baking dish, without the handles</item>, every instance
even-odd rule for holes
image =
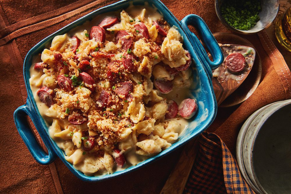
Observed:
[[[32,60],[32,57],[34,56],[33,55],[33,52],[35,50],[37,50],[39,47],[42,47],[43,45],[46,45],[48,43],[50,43],[50,38],[56,36],[56,35],[59,35],[59,34],[63,34],[63,33],[66,33],[68,31],[70,31],[71,29],[74,29],[75,27],[77,26],[80,26],[82,24],[84,24],[84,22],[90,20],[90,17],[93,16],[93,17],[96,17],[97,15],[100,15],[100,14],[103,14],[103,13],[100,13],[102,10],[108,10],[108,9],[112,9],[112,10],[108,10],[108,11],[105,11],[106,12],[111,12],[111,11],[116,11],[116,10],[119,10],[119,8],[117,8],[117,6],[121,6],[125,3],[139,3],[140,1],[139,0],[122,0],[122,1],[118,1],[116,3],[113,3],[113,4],[110,4],[110,5],[107,5],[107,6],[104,6],[102,8],[99,8],[97,10],[94,10],[93,12],[91,13],[88,13],[87,15],[83,16],[83,17],[80,17],[79,19],[71,22],[70,24],[64,26],[63,28],[57,30],[56,32],[52,33],[51,35],[47,36],[46,38],[44,38],[43,40],[41,40],[40,42],[38,42],[35,46],[33,46],[29,52],[26,54],[26,57],[24,59],[24,68],[23,68],[23,74],[24,74],[24,81],[25,81],[25,86],[26,86],[26,90],[27,90],[27,101],[26,101],[26,106],[32,110],[32,117],[38,117],[40,116],[40,119],[38,120],[38,122],[41,123],[42,126],[44,126],[45,122],[44,122],[44,118],[41,117],[39,111],[38,111],[38,108],[37,108],[37,105],[36,105],[36,102],[35,102],[35,99],[33,97],[33,94],[32,94],[32,90],[30,88],[30,84],[29,84],[29,78],[30,78],[30,74],[29,74],[29,68],[32,64],[29,64],[29,61]],[[205,67],[205,64],[206,62],[202,62],[201,59],[199,58],[199,51],[198,50],[195,50],[194,49],[194,45],[193,45],[193,41],[191,41],[191,39],[188,37],[187,33],[185,32],[185,30],[182,28],[182,24],[180,23],[180,21],[178,21],[178,19],[173,15],[173,13],[171,13],[170,10],[168,10],[168,8],[159,0],[146,0],[146,1],[142,1],[142,2],[147,2],[148,3],[148,6],[150,7],[153,7],[153,6],[156,6],[156,5],[159,5],[159,6],[162,6],[164,8],[164,10],[159,10],[159,12],[162,14],[162,15],[165,15],[165,13],[168,13],[168,16],[171,18],[171,23],[175,23],[173,25],[177,26],[178,27],[178,30],[179,32],[181,33],[181,35],[183,36],[184,38],[184,42],[185,40],[187,41],[187,49],[191,49],[193,50],[192,52],[194,52],[196,54],[196,57],[194,59],[194,62],[195,64],[197,65],[197,63],[200,63],[200,67],[202,69],[200,70],[203,70],[203,74],[205,75],[205,77],[207,78],[207,82],[206,80],[202,80],[200,79],[200,83],[205,83],[207,85],[210,86],[210,92],[211,94],[208,94],[208,97],[211,97],[209,99],[207,99],[207,101],[210,102],[210,104],[212,105],[212,110],[209,111],[209,114],[207,116],[207,123],[205,123],[203,126],[201,126],[200,130],[197,130],[195,131],[192,135],[189,135],[189,137],[185,138],[185,140],[183,141],[179,141],[177,140],[171,147],[169,147],[168,149],[160,152],[159,154],[155,155],[155,156],[152,156],[151,158],[135,165],[135,166],[131,166],[129,168],[125,168],[124,170],[122,171],[116,171],[110,175],[98,175],[98,176],[86,176],[84,175],[83,172],[81,171],[78,171],[76,170],[71,163],[69,163],[68,161],[65,160],[65,157],[64,157],[64,153],[63,153],[63,150],[61,150],[57,145],[56,143],[54,142],[54,140],[52,140],[52,138],[49,136],[49,133],[48,133],[48,127],[47,125],[46,126],[46,130],[44,132],[44,134],[46,136],[48,136],[49,138],[49,141],[52,145],[52,149],[53,151],[56,153],[56,155],[62,160],[62,162],[69,168],[69,170],[75,175],[77,176],[79,179],[83,180],[83,181],[90,181],[90,182],[97,182],[97,181],[104,181],[104,180],[107,180],[107,179],[111,179],[113,177],[118,177],[118,176],[121,176],[121,175],[124,175],[126,173],[129,173],[129,172],[132,172],[134,170],[137,170],[145,165],[148,165],[149,163],[151,163],[152,161],[155,161],[155,160],[158,160],[160,159],[161,157],[165,156],[166,154],[168,153],[171,153],[172,151],[174,151],[175,149],[177,149],[178,147],[184,145],[185,143],[187,143],[189,140],[193,139],[194,137],[196,137],[198,134],[202,133],[203,131],[205,131],[209,126],[210,124],[213,122],[215,116],[216,116],[216,113],[217,113],[217,103],[216,103],[216,100],[215,100],[215,95],[214,95],[214,92],[213,92],[213,88],[212,88],[212,84],[211,84],[211,79],[209,78],[209,76],[207,75],[207,69]],[[145,4],[144,4],[145,5]],[[125,5],[126,7],[126,5]],[[125,7],[123,7],[124,9],[126,9]],[[80,23],[82,24],[80,24]],[[169,22],[167,20],[167,22]],[[74,24],[77,24],[76,26],[74,26]],[[73,27],[72,27],[73,26]],[[192,60],[193,60],[193,56],[192,56]],[[208,122],[209,121],[209,122]],[[40,129],[41,130],[41,129]],[[195,129],[192,129],[192,130],[195,130]]]

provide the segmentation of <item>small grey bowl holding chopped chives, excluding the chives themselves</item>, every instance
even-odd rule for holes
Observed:
[[[261,0],[262,10],[259,13],[260,20],[249,30],[239,30],[230,26],[223,18],[220,11],[223,2],[224,0],[215,0],[215,11],[217,17],[228,29],[240,34],[255,34],[269,27],[276,18],[280,7],[279,0]]]

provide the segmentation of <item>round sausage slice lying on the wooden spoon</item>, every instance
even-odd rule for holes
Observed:
[[[233,73],[239,73],[244,70],[246,59],[240,53],[232,53],[225,59],[225,65]]]

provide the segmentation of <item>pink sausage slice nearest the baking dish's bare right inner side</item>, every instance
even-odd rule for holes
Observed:
[[[179,105],[179,113],[185,119],[190,119],[197,112],[198,106],[194,99],[184,99]]]

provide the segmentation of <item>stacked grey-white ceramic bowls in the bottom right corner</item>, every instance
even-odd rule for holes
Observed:
[[[239,131],[236,153],[256,193],[291,193],[291,99],[253,113]]]

